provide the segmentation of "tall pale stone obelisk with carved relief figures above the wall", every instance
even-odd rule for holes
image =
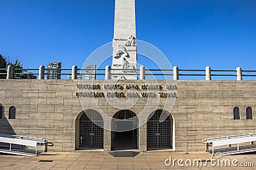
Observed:
[[[137,79],[135,0],[115,1],[112,69],[113,80]]]

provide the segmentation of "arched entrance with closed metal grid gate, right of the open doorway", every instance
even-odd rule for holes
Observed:
[[[162,117],[166,117],[161,122]],[[148,117],[147,122],[147,150],[172,148],[173,119],[164,110],[156,110]]]

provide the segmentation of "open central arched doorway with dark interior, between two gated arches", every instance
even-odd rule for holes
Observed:
[[[111,150],[138,149],[138,124],[132,111],[118,111],[111,120]]]

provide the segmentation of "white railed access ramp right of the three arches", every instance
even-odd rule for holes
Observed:
[[[205,143],[205,152],[211,152],[212,155],[216,155],[217,153],[221,153],[221,155],[234,155],[238,153],[256,152],[256,145],[254,145],[255,141],[255,133],[222,136],[202,140],[202,142]],[[217,146],[225,145],[227,145],[227,147],[216,148]]]

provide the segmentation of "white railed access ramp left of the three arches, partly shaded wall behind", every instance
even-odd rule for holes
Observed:
[[[30,138],[11,134],[0,134],[0,152],[14,155],[36,156],[45,152],[47,139]],[[38,145],[43,145],[43,150],[38,150]],[[31,148],[33,147],[33,148]]]

